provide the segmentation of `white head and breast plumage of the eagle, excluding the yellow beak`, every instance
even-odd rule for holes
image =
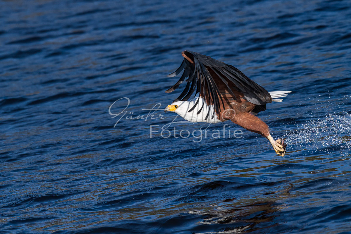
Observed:
[[[197,99],[199,99],[199,103],[193,109],[193,111],[188,112],[197,102]],[[192,101],[178,101],[172,103],[172,105],[178,105],[178,108],[176,109],[176,113],[178,113],[181,117],[183,117],[185,120],[190,121],[190,122],[207,122],[207,123],[218,123],[221,122],[217,118],[216,112],[214,113],[213,119],[212,119],[212,114],[214,111],[213,105],[208,106],[203,98],[201,97],[196,97]],[[204,103],[204,107],[202,108],[201,112],[199,114],[198,111],[201,109],[201,106]],[[210,112],[208,115],[207,119],[206,115],[207,113]]]

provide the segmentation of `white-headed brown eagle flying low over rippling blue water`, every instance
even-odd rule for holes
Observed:
[[[274,140],[267,124],[256,114],[265,111],[267,103],[282,102],[279,98],[291,91],[268,92],[236,67],[188,50],[181,54],[184,60],[180,67],[167,76],[177,76],[184,70],[183,74],[165,92],[173,92],[184,81],[186,85],[178,98],[165,108],[165,112],[175,112],[190,122],[231,120],[251,132],[261,134],[270,141],[278,155],[285,155],[285,139]],[[188,101],[194,92],[194,98]]]

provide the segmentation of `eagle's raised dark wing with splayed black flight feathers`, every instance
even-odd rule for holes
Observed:
[[[214,111],[217,113],[221,110],[219,99],[221,99],[224,108],[221,94],[225,92],[229,92],[233,99],[236,99],[233,91],[241,92],[247,101],[256,105],[265,105],[266,103],[272,102],[271,95],[263,87],[253,82],[237,68],[192,51],[184,51],[183,56],[187,57],[190,61],[184,58],[177,71],[168,75],[168,77],[174,77],[184,69],[183,75],[181,75],[178,82],[168,89],[166,93],[173,92],[184,82],[185,78],[188,77],[188,79],[185,80],[187,84],[184,91],[173,102],[188,100],[194,91],[196,91],[196,94],[199,93],[201,97],[205,97],[208,103],[213,104]],[[213,75],[211,75],[211,73]],[[218,87],[226,87],[226,90],[222,90],[223,88],[220,89]],[[194,107],[191,108],[189,112],[193,111],[197,103],[198,102],[195,103]],[[202,108],[203,107],[201,107],[201,109]],[[200,111],[198,113],[200,113]],[[213,116],[214,112],[212,118]],[[206,119],[207,117],[208,114]]]

